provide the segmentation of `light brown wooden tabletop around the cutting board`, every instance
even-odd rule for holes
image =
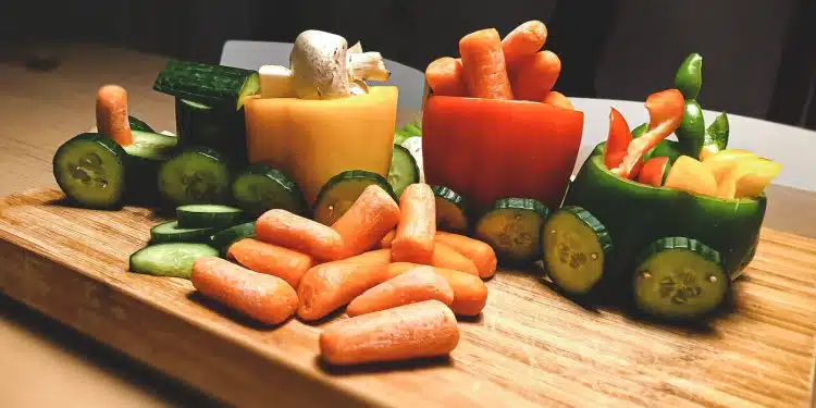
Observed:
[[[63,61],[52,72],[0,61],[0,196],[55,186],[53,151],[94,123],[94,91],[103,83],[128,89],[134,115],[174,128],[172,98],[150,89],[166,59],[97,46],[55,52]],[[816,208],[816,194],[771,187],[768,196],[766,226],[816,237],[816,215],[807,211]],[[2,295],[0,349],[3,407],[218,406]]]

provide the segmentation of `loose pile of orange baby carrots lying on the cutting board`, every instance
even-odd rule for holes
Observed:
[[[490,245],[436,231],[434,194],[417,183],[399,205],[367,187],[331,226],[270,210],[255,238],[232,244],[227,259],[199,258],[190,280],[202,295],[273,325],[347,306],[349,318],[322,331],[320,353],[329,363],[355,364],[450,353],[456,316],[482,311],[482,279],[495,271]]]

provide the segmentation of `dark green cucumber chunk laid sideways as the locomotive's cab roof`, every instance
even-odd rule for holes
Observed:
[[[210,107],[239,110],[244,97],[260,91],[258,71],[190,61],[169,61],[153,90]]]

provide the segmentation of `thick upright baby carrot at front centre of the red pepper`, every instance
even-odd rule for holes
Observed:
[[[512,99],[502,38],[495,28],[468,34],[459,40],[465,86],[473,98]]]

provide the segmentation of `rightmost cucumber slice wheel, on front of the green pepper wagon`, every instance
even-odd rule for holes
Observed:
[[[657,318],[701,318],[722,304],[729,289],[720,254],[696,239],[660,238],[636,264],[635,305]]]

